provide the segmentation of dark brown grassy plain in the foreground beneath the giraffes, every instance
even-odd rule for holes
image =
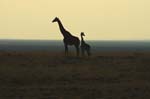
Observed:
[[[150,52],[1,51],[0,99],[150,99]]]

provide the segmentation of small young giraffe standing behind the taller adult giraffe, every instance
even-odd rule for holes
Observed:
[[[85,43],[83,36],[85,36],[84,32],[81,32],[81,53],[84,56],[84,52],[86,51],[87,55],[91,55],[91,47],[89,44]]]

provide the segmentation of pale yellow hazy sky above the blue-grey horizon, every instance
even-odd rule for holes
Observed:
[[[0,39],[150,40],[150,0],[0,0]]]

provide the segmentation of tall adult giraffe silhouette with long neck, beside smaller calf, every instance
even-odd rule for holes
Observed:
[[[68,55],[68,45],[71,46],[71,45],[74,45],[75,48],[76,48],[76,53],[77,53],[77,56],[79,56],[79,46],[80,46],[80,40],[78,37],[76,36],[73,36],[70,32],[68,32],[62,22],[60,21],[59,18],[55,18],[52,22],[57,22],[58,25],[59,25],[59,29],[60,29],[60,32],[62,33],[64,39],[63,39],[63,42],[64,42],[64,46],[65,46],[65,54]]]

